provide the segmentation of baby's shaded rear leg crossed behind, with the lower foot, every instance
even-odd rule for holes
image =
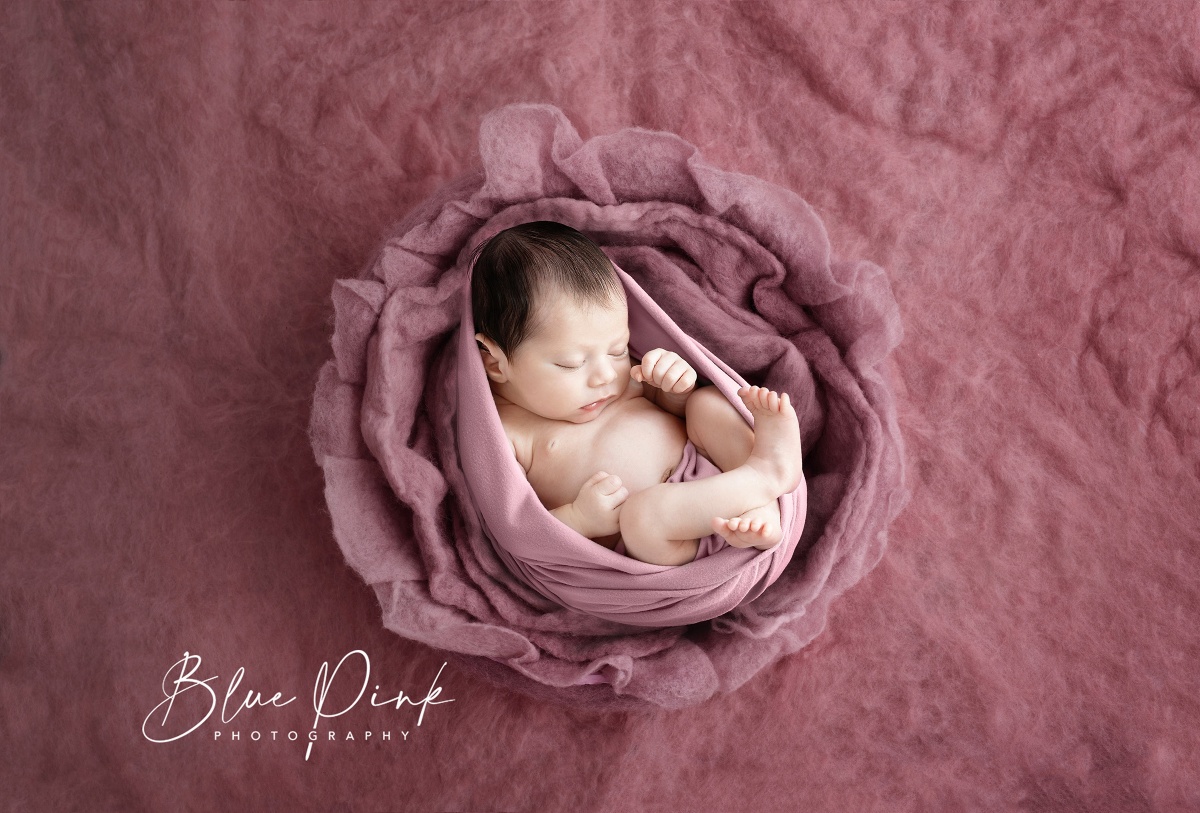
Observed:
[[[751,387],[751,395],[756,390],[758,387]],[[746,462],[754,447],[754,429],[720,390],[715,386],[696,390],[688,398],[685,409],[688,439],[716,468],[730,471]],[[732,516],[731,519],[725,517],[714,519],[710,530],[720,534],[736,548],[767,550],[784,538],[779,502],[775,500]]]

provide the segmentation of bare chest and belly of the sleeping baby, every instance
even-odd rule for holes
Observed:
[[[666,480],[683,457],[688,429],[644,398],[619,401],[587,423],[554,423],[533,439],[529,483],[548,508],[572,501],[596,471],[630,494]]]

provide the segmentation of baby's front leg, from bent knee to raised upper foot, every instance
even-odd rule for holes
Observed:
[[[630,556],[654,565],[691,561],[696,540],[713,531],[714,518],[737,517],[799,484],[800,427],[787,396],[746,390],[742,399],[756,426],[745,463],[712,477],[659,483],[630,495],[620,510],[620,535]]]

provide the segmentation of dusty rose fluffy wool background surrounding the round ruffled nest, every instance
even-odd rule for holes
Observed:
[[[1196,19],[1192,0],[5,4],[5,806],[1200,808]],[[793,189],[899,303],[912,500],[886,555],[809,646],[696,706],[439,674],[332,537],[307,438],[329,291],[479,165],[510,102],[583,138],[678,133]],[[355,649],[367,695],[305,761],[319,667]],[[150,742],[185,651],[218,700],[245,668],[228,722]],[[433,682],[452,703],[420,725],[385,703]],[[296,700],[232,716],[247,689]],[[188,697],[175,731],[203,717]],[[326,710],[353,699],[338,683]]]

